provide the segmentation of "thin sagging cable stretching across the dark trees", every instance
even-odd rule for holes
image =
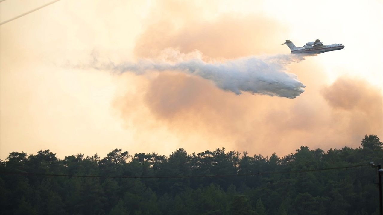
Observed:
[[[211,178],[211,177],[231,177],[231,176],[257,176],[257,175],[270,175],[270,174],[286,174],[286,173],[306,173],[325,171],[332,169],[349,169],[360,166],[370,166],[368,164],[355,165],[355,166],[342,166],[322,169],[303,169],[295,171],[282,171],[282,172],[258,172],[258,173],[246,173],[246,174],[223,174],[223,175],[183,175],[183,176],[92,176],[92,175],[68,175],[68,174],[48,174],[48,173],[27,173],[27,172],[11,172],[0,171],[1,174],[14,174],[14,175],[26,175],[26,176],[53,176],[53,177],[77,177],[77,178]]]

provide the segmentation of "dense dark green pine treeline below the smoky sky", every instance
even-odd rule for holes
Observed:
[[[225,148],[198,154],[179,148],[169,157],[131,156],[115,149],[103,158],[77,154],[64,160],[49,150],[36,155],[11,152],[0,160],[0,210],[1,214],[58,215],[378,215],[376,168],[304,170],[383,163],[382,145],[376,135],[366,135],[359,148],[325,152],[301,146],[282,158]],[[280,174],[257,174],[270,172]]]

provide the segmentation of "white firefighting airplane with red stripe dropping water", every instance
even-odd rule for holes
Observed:
[[[291,54],[320,54],[344,48],[342,44],[323,45],[323,43],[319,41],[319,39],[317,39],[315,42],[308,42],[303,47],[296,47],[290,40],[286,40],[286,42],[284,42],[282,45],[285,44],[290,48]]]

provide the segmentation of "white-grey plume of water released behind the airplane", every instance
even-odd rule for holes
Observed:
[[[101,64],[95,58],[92,67],[136,74],[177,70],[211,80],[219,88],[236,94],[250,92],[295,98],[303,93],[305,86],[296,75],[286,72],[286,65],[300,60],[303,57],[299,55],[274,55],[214,61],[204,59],[198,50],[183,54],[175,49],[167,49],[159,59],[141,59],[136,63]]]

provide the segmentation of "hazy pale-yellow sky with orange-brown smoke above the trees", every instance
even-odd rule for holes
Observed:
[[[0,3],[5,21],[50,0]],[[91,67],[160,59],[289,54],[320,39],[344,49],[287,65],[306,88],[290,99],[218,88],[179,71]],[[283,156],[383,138],[383,3],[367,1],[61,0],[0,26],[0,157],[114,148],[169,155],[226,147]],[[178,56],[177,55],[177,56]],[[176,56],[176,57],[177,57]],[[93,60],[93,61],[92,61]]]

